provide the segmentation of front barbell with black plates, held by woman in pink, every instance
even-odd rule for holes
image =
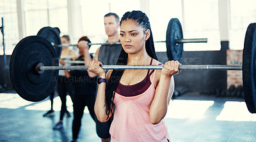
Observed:
[[[166,32],[168,33],[168,32]],[[167,42],[166,42],[167,43]],[[166,44],[167,45],[167,44]],[[173,46],[166,46],[172,51]],[[183,52],[182,48],[177,48]],[[250,24],[244,38],[243,66],[180,65],[180,70],[242,70],[244,100],[251,113],[256,113],[256,23]],[[167,52],[170,59],[170,53]],[[28,36],[15,46],[10,59],[13,89],[23,99],[42,101],[55,89],[58,70],[86,70],[88,66],[58,66],[58,55],[52,44],[40,36]],[[104,65],[104,69],[162,69],[163,66]]]

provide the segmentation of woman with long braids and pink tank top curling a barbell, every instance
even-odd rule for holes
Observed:
[[[157,61],[145,13],[131,11],[124,14],[120,21],[120,41],[123,48],[117,65],[161,64]],[[162,70],[114,69],[107,74],[101,65],[93,60],[88,71],[99,75],[95,102],[98,120],[106,122],[114,115],[109,130],[111,140],[169,141],[164,116],[174,89],[173,75],[179,73],[179,62],[166,62]]]

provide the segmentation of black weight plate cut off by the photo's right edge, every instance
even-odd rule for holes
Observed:
[[[256,113],[256,23],[246,30],[243,49],[244,101],[250,113]]]

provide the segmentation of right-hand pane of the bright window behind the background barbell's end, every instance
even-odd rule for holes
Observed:
[[[208,38],[208,43],[184,44],[184,50],[220,50],[218,0],[184,0],[184,38]]]

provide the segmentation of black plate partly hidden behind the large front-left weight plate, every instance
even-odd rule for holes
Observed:
[[[61,39],[59,32],[53,27],[43,27],[37,32],[36,36],[42,36],[54,45],[61,45]],[[54,47],[58,57],[61,55],[61,47]]]

